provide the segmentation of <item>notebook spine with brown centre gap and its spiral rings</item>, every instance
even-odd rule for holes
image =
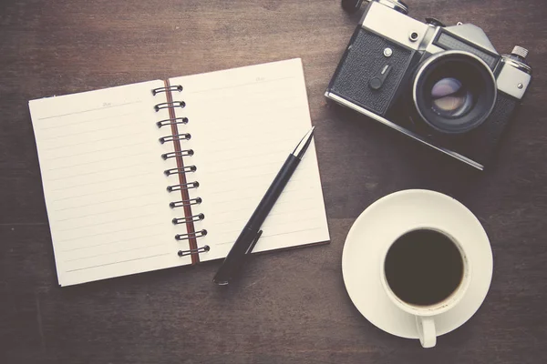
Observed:
[[[185,165],[184,159],[186,157],[192,157],[194,151],[191,148],[182,147],[184,142],[191,139],[190,133],[184,133],[179,130],[179,126],[184,126],[190,123],[190,120],[186,116],[176,116],[175,110],[182,109],[186,106],[186,102],[183,100],[173,100],[173,93],[181,93],[183,87],[181,85],[170,86],[166,81],[164,87],[158,87],[151,90],[153,96],[165,93],[166,102],[162,102],[154,106],[154,110],[159,112],[162,109],[166,109],[169,112],[169,118],[156,122],[156,126],[162,128],[169,128],[170,133],[165,136],[160,136],[159,141],[161,144],[172,143],[174,150],[169,153],[164,153],[161,157],[164,160],[174,159],[177,163],[177,167],[169,168],[163,171],[165,176],[176,175],[179,177],[179,183],[170,185],[167,187],[169,193],[180,194],[181,199],[170,202],[170,208],[181,208],[182,217],[175,217],[171,220],[173,225],[185,225],[186,232],[175,235],[174,239],[178,242],[188,241],[189,248],[186,250],[179,250],[177,255],[179,257],[191,256],[192,264],[200,261],[199,254],[207,252],[210,247],[204,245],[198,247],[197,239],[205,237],[207,230],[202,228],[196,230],[194,223],[199,222],[205,218],[202,213],[193,214],[192,208],[200,205],[203,201],[201,197],[190,197],[189,190],[200,187],[200,183],[197,180],[187,180],[187,177],[192,172],[197,170],[195,165]]]

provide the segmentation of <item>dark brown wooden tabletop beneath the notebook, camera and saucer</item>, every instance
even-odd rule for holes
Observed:
[[[0,2],[1,363],[547,362],[547,5],[408,0],[410,15],[484,28],[531,50],[534,80],[501,153],[479,173],[323,93],[358,15],[338,0]],[[27,101],[302,57],[332,243],[253,258],[237,286],[220,262],[59,288]],[[392,337],[346,294],[348,229],[379,197],[430,188],[480,218],[490,293],[435,349]]]

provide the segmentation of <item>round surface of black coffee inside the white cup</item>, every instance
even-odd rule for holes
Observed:
[[[389,287],[412,305],[429,306],[448,298],[463,277],[463,261],[452,240],[434,230],[410,231],[387,251]]]

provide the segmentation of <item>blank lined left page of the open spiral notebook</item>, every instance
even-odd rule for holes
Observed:
[[[160,155],[162,81],[29,102],[61,286],[189,264]],[[181,231],[181,229],[184,229]]]

